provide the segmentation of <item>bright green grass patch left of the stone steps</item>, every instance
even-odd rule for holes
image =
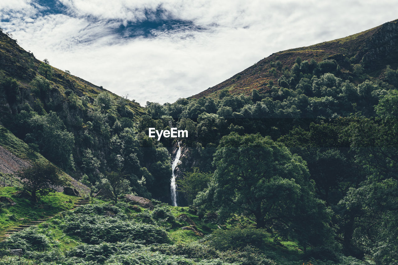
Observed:
[[[69,210],[74,207],[78,197],[72,197],[57,192],[55,195],[42,197],[33,205],[29,199],[20,198],[15,195],[19,189],[17,187],[0,187],[0,196],[12,199],[17,204],[1,209],[0,212],[0,231],[5,234],[5,230],[27,224],[30,221],[39,220],[49,216]]]

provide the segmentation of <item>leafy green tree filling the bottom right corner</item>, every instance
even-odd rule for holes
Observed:
[[[362,258],[369,251],[376,264],[396,264],[397,194],[395,179],[367,180],[358,188],[349,189],[338,205],[338,227],[345,255]]]

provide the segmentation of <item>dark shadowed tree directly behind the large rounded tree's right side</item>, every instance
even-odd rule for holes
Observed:
[[[336,123],[311,123],[309,131],[295,127],[278,139],[293,154],[302,157],[315,181],[318,197],[327,205],[336,205],[347,189],[363,181],[363,174],[349,152],[348,142],[339,133],[343,126]]]

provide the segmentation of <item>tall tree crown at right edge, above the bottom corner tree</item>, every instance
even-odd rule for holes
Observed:
[[[398,179],[398,92],[386,95],[375,107],[378,118],[347,118],[343,135],[355,152],[356,163],[378,179]]]

